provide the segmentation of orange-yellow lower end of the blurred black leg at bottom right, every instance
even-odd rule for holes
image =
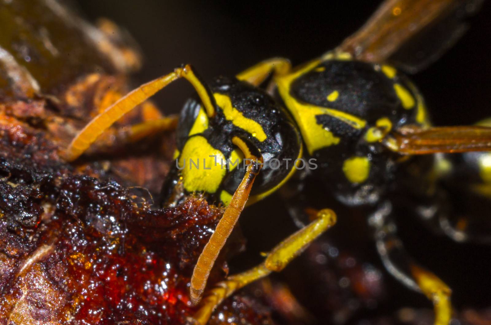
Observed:
[[[452,290],[435,274],[418,266],[412,265],[411,273],[421,291],[433,301],[435,325],[448,325],[452,316]]]

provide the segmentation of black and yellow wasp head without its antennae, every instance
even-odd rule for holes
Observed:
[[[182,110],[177,131],[176,168],[187,192],[204,192],[227,204],[246,172],[248,154],[234,145],[240,138],[264,165],[251,192],[254,202],[292,175],[301,158],[301,140],[288,113],[266,92],[235,78],[219,77],[210,84],[216,114],[208,117],[199,101]],[[196,161],[200,166],[196,167]],[[193,163],[194,162],[194,163]],[[176,177],[166,192],[175,186]]]

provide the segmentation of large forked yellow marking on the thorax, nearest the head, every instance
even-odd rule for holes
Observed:
[[[275,78],[279,94],[285,102],[285,105],[299,124],[303,139],[305,141],[305,144],[307,145],[307,150],[311,155],[318,149],[328,147],[333,144],[338,144],[340,141],[339,137],[334,136],[332,132],[317,123],[317,115],[329,115],[335,117],[349,124],[355,129],[362,129],[366,125],[365,120],[360,119],[354,115],[345,113],[337,109],[324,108],[307,103],[301,103],[295,97],[290,95],[290,86],[292,82],[298,79],[301,75],[316,68],[320,62],[321,60],[315,59],[307,63],[303,68],[289,75],[277,76]]]

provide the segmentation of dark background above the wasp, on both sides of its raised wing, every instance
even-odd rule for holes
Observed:
[[[205,78],[234,75],[272,56],[300,64],[333,49],[381,1],[320,2],[79,0],[90,20],[108,17],[134,36],[145,57],[134,79],[140,83],[181,63],[192,63]],[[438,124],[472,123],[490,115],[490,14],[488,1],[457,46],[412,77]],[[164,111],[176,112],[191,87],[183,81],[169,89],[157,101]]]

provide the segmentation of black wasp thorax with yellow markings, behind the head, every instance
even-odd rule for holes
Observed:
[[[393,177],[397,155],[380,141],[393,129],[427,123],[417,89],[389,65],[331,54],[277,84],[326,183],[349,204],[376,202]]]

